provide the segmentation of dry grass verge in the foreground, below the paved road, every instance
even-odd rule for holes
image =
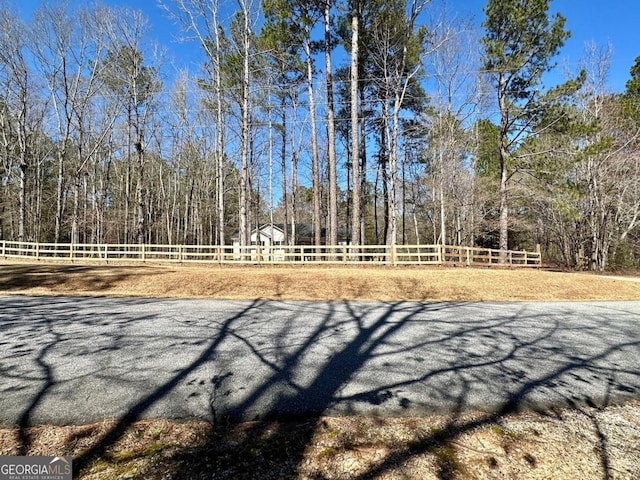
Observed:
[[[113,422],[34,427],[31,455],[82,455]],[[0,430],[0,455],[17,432]],[[543,413],[422,418],[322,417],[212,427],[129,426],[83,479],[637,479],[640,403]]]

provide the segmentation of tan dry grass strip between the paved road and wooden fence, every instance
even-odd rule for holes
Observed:
[[[638,300],[640,283],[544,270],[0,264],[0,294],[266,300]]]

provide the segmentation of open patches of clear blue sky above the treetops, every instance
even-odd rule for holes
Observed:
[[[170,0],[169,0],[170,1]],[[19,9],[23,13],[33,10],[39,0],[23,0]],[[72,2],[73,3],[73,2]],[[142,10],[150,20],[151,34],[167,47],[179,68],[197,68],[200,62],[199,52],[194,46],[176,41],[180,32],[173,23],[164,17],[155,0],[103,0],[107,5],[126,5]],[[451,12],[473,15],[478,27],[483,21],[483,0],[448,0]],[[609,77],[612,91],[624,90],[629,78],[629,69],[635,58],[640,56],[640,1],[638,0],[554,0],[552,9],[559,11],[567,19],[567,28],[572,37],[567,41],[557,58],[558,68],[568,65],[577,70],[583,56],[584,46],[588,42],[613,46],[613,57]]]

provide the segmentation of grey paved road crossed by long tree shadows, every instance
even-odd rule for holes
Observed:
[[[640,396],[640,302],[0,297],[0,425]]]

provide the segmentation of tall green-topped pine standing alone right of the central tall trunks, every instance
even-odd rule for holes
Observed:
[[[565,18],[549,15],[550,0],[489,0],[483,39],[485,69],[498,94],[500,110],[500,250],[509,246],[508,183],[513,152],[529,135],[541,113],[542,75],[570,33]]]

